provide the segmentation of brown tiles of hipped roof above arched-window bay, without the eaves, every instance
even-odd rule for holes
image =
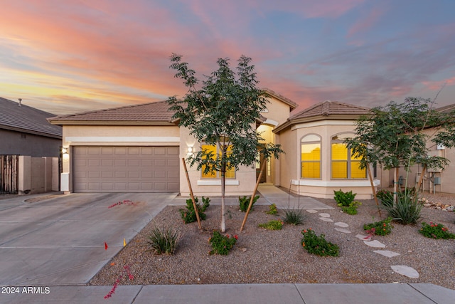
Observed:
[[[322,103],[306,108],[295,115],[289,117],[288,120],[297,120],[299,118],[309,117],[328,117],[331,115],[366,115],[370,112],[369,108],[350,105],[348,103],[339,103],[338,101],[326,100]]]

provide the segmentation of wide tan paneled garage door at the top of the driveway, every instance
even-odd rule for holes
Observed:
[[[74,147],[74,192],[178,192],[178,147]]]

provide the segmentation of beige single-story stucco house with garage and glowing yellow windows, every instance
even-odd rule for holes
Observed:
[[[370,199],[365,171],[343,145],[355,120],[367,108],[326,101],[291,115],[297,105],[266,89],[270,103],[257,127],[265,142],[282,145],[285,154],[271,159],[262,182],[322,198],[333,190],[353,190],[357,199]],[[189,194],[182,159],[201,149],[189,130],[172,120],[166,102],[82,112],[49,119],[63,126],[65,192],[179,192]],[[249,195],[255,187],[259,164],[229,174],[226,195]],[[188,167],[196,195],[220,195],[217,174]],[[375,185],[379,181],[375,180]]]

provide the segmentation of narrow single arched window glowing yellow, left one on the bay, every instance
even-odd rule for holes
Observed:
[[[310,134],[302,137],[301,146],[301,178],[321,178],[321,137]]]

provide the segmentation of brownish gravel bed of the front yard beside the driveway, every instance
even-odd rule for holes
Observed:
[[[429,201],[444,201],[455,205],[451,196],[425,196]],[[245,213],[239,206],[226,206],[226,233],[237,234],[238,241],[228,256],[209,255],[208,239],[214,229],[219,229],[220,206],[210,205],[202,221],[203,230],[197,223],[183,224],[178,209],[183,206],[167,206],[140,233],[109,261],[90,285],[113,285],[121,275],[120,285],[150,284],[230,284],[230,283],[432,283],[455,289],[455,239],[429,239],[418,230],[420,224],[403,226],[393,224],[392,234],[374,236],[385,244],[383,250],[400,253],[389,258],[373,251],[380,248],[366,246],[356,238],[365,234],[363,224],[385,219],[378,214],[372,201],[361,201],[357,215],[340,211],[333,199],[318,199],[334,209],[317,213],[304,211],[303,225],[284,224],[282,230],[269,231],[258,224],[271,219],[283,219],[279,209],[277,216],[266,214],[269,206],[255,206],[243,231],[239,231]],[[283,201],[283,206],[287,204]],[[283,207],[283,206],[278,206]],[[134,206],[117,206],[131,208]],[[330,215],[333,222],[322,221],[319,213]],[[432,206],[422,209],[422,219],[444,224],[455,233],[455,213],[441,211]],[[350,234],[337,231],[336,222],[348,224]],[[183,237],[174,255],[154,255],[146,251],[146,236],[154,227],[172,227]],[[340,247],[338,257],[320,257],[307,253],[301,246],[301,231],[313,229],[325,234],[326,239]],[[392,271],[391,266],[403,265],[414,268],[419,278],[408,278]],[[124,271],[129,269],[133,280]]]

